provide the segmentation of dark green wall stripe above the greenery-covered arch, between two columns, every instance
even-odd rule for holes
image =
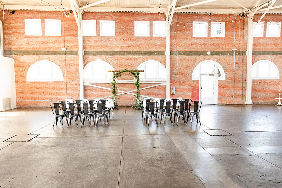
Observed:
[[[84,51],[85,56],[164,56],[164,51]]]

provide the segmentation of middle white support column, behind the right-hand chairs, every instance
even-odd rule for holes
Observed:
[[[167,17],[166,19],[166,25],[167,25],[167,33],[165,36],[165,68],[167,70],[167,83],[166,83],[166,89],[165,89],[165,96],[170,97],[170,27],[169,27],[169,13],[165,14]]]

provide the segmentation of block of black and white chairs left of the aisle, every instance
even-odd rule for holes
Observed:
[[[78,127],[78,117],[81,122],[81,127],[84,124],[85,118],[89,121],[91,127],[91,118],[95,122],[95,127],[98,124],[98,120],[103,117],[103,121],[106,127],[106,120],[109,124],[110,110],[109,105],[107,104],[108,100],[88,100],[84,102],[83,100],[74,100],[73,103],[70,103],[66,100],[61,100],[58,103],[52,103],[51,109],[54,114],[53,127],[58,122],[58,118],[61,120],[63,126],[63,118],[66,117],[68,126],[71,123],[71,120],[74,118],[76,126]],[[107,108],[108,106],[108,108]],[[94,120],[95,119],[95,120]]]

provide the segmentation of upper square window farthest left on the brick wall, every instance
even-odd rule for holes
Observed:
[[[24,19],[26,35],[41,36],[41,19]]]

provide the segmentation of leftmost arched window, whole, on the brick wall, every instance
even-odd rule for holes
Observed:
[[[60,67],[52,61],[41,60],[33,63],[26,75],[28,82],[54,82],[64,81]]]

